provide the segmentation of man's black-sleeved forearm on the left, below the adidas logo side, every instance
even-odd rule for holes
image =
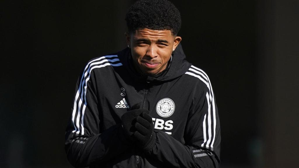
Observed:
[[[85,142],[69,139],[65,143],[68,160],[74,167],[87,167],[97,162],[109,161],[126,149],[128,143],[120,124],[88,137]]]

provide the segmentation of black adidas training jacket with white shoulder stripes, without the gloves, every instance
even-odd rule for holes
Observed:
[[[140,75],[131,50],[90,60],[76,87],[65,151],[74,167],[219,167],[220,124],[207,74],[179,45],[167,68]],[[121,116],[149,110],[156,141],[142,150],[123,134]],[[149,146],[147,146],[149,147]]]

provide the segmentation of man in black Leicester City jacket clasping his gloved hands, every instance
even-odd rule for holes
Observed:
[[[185,60],[180,13],[135,2],[128,48],[88,62],[65,150],[75,167],[218,167],[220,125],[210,80]]]

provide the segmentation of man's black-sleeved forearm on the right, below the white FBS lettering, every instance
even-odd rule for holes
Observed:
[[[216,151],[183,145],[162,131],[155,131],[155,133],[156,145],[147,157],[160,161],[169,167],[219,167],[220,159],[219,156],[215,155]]]

